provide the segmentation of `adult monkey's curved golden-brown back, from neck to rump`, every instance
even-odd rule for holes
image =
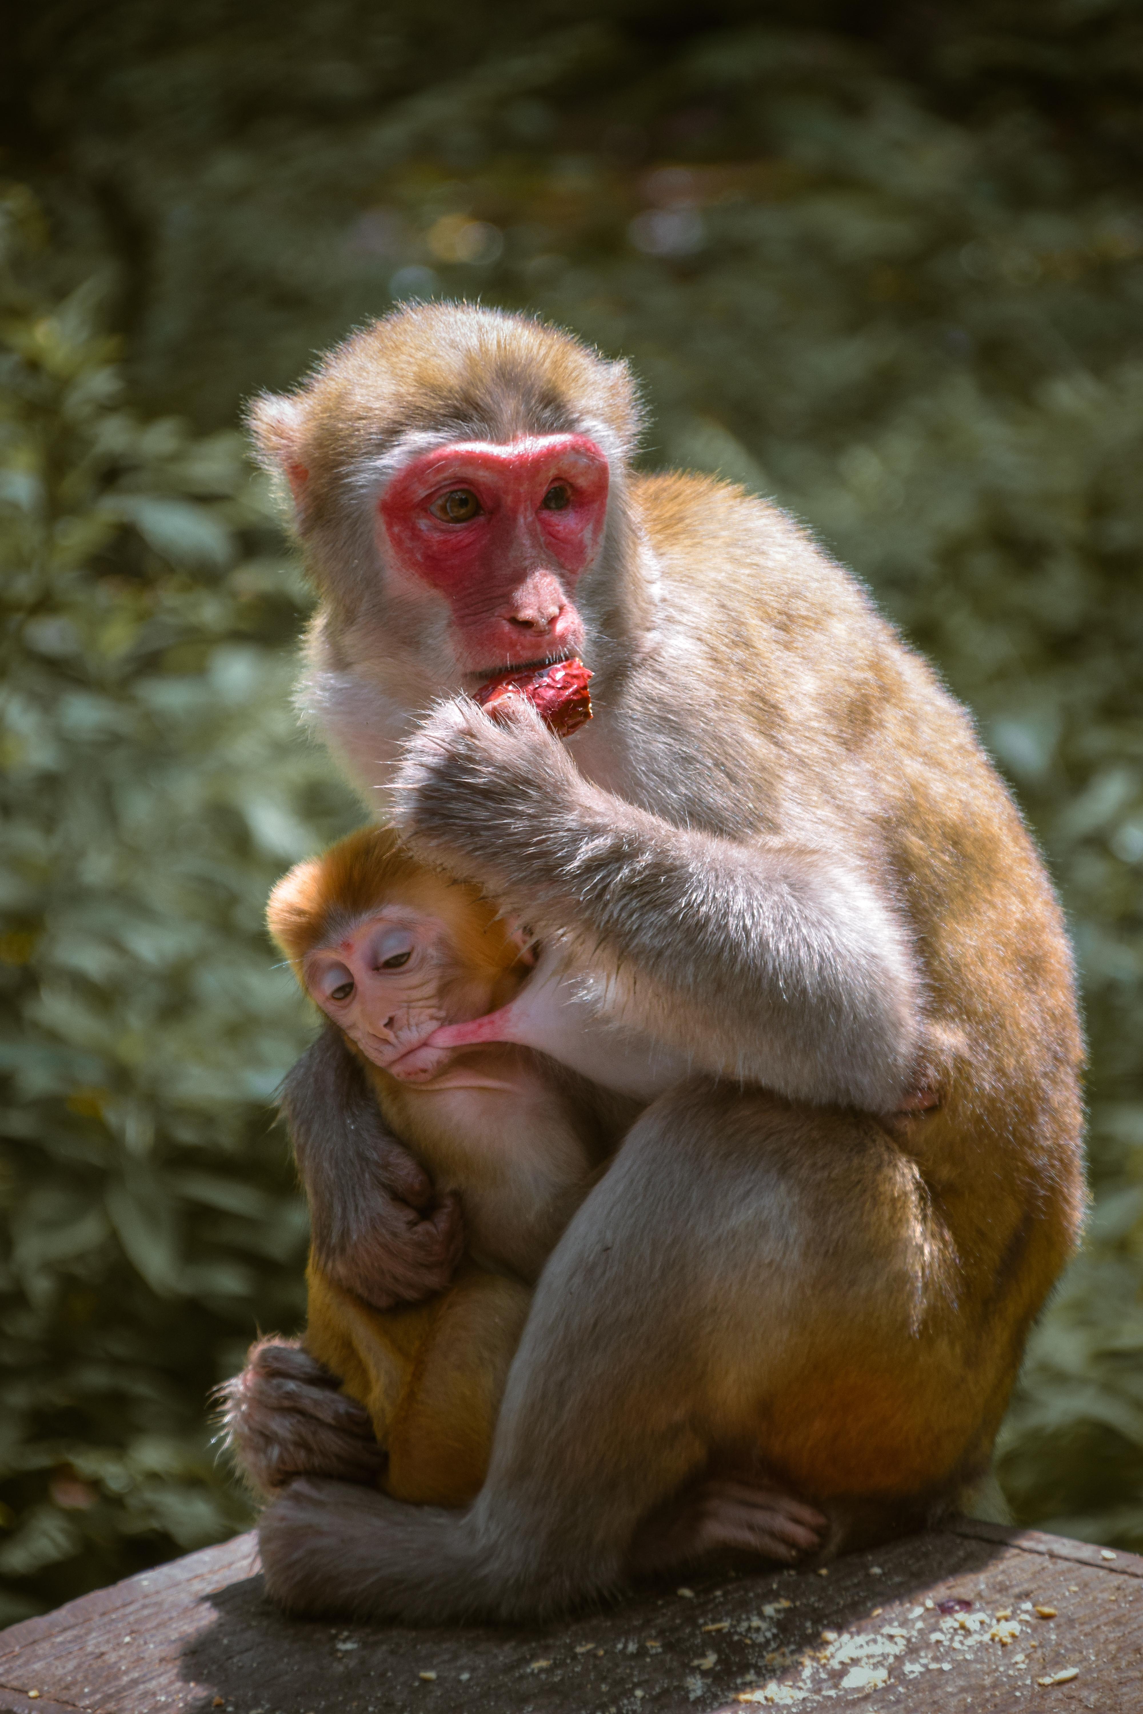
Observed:
[[[824,843],[881,881],[924,972],[939,1097],[891,1130],[956,1250],[949,1286],[977,1301],[963,1325],[1004,1299],[1011,1337],[1085,1205],[1083,1039],[1044,864],[968,713],[790,518],[703,476],[641,478],[634,499],[660,619],[605,715],[627,775],[607,783],[677,824]],[[725,720],[691,720],[696,698]]]

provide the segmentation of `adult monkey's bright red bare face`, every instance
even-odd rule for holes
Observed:
[[[607,458],[586,435],[435,447],[380,500],[391,569],[447,600],[470,674],[576,655],[574,590],[600,552],[607,492]]]

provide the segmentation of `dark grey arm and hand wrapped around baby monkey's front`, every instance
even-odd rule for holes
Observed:
[[[317,1265],[377,1309],[444,1291],[464,1250],[459,1202],[435,1198],[332,1025],[286,1076],[279,1106]]]

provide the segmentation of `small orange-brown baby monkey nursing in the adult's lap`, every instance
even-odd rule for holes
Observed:
[[[267,924],[387,1126],[437,1191],[459,1195],[468,1234],[452,1286],[396,1309],[310,1258],[305,1345],[367,1407],[386,1491],[463,1505],[485,1476],[530,1287],[641,1102],[524,1044],[576,1035],[576,996],[471,886],[425,869],[386,828],[291,869]]]

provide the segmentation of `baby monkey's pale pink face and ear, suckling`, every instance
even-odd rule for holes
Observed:
[[[454,1058],[454,1049],[422,1046],[435,1028],[504,1004],[526,974],[516,946],[500,967],[464,960],[456,926],[408,903],[382,905],[303,963],[322,1011],[374,1064],[408,1082],[435,1076]]]

